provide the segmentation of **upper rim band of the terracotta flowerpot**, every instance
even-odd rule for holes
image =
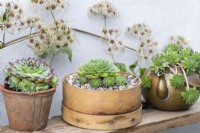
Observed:
[[[40,92],[17,92],[17,91],[11,91],[6,89],[4,86],[0,85],[0,91],[4,94],[8,95],[28,95],[28,96],[35,96],[35,95],[47,95],[47,94],[52,94],[56,91],[55,88],[51,88],[45,91],[40,91]]]

